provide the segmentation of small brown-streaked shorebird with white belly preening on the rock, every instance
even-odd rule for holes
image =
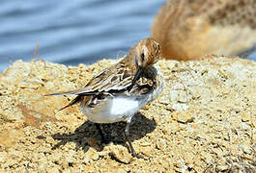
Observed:
[[[162,92],[164,80],[154,66],[160,54],[159,43],[154,38],[144,38],[123,60],[101,71],[83,88],[46,96],[76,95],[61,110],[80,103],[80,110],[96,123],[102,140],[105,137],[100,129],[101,123],[127,122],[125,136],[131,155],[142,158],[132,147],[128,129],[132,116]]]

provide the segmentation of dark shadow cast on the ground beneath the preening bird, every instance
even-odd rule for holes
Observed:
[[[125,140],[125,122],[118,122],[112,124],[101,124],[102,132],[114,143],[126,145]],[[137,113],[132,118],[132,123],[129,128],[129,136],[131,141],[142,138],[147,134],[153,132],[156,129],[155,119],[148,119],[141,113]],[[101,151],[104,144],[100,142],[100,134],[94,123],[90,121],[84,122],[79,126],[72,134],[54,134],[52,137],[55,140],[60,140],[55,144],[52,149],[59,148],[68,142],[74,142],[76,147],[82,147],[84,152],[90,147],[94,147],[96,150]]]

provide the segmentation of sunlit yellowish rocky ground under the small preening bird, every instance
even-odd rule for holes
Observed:
[[[95,126],[71,97],[43,94],[84,86],[116,61],[65,66],[14,62],[0,75],[0,171],[255,172],[256,63],[239,58],[160,61],[164,92],[124,123]]]

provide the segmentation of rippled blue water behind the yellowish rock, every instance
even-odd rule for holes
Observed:
[[[15,60],[78,64],[113,59],[150,36],[165,0],[2,0],[0,72]],[[121,54],[121,56],[124,54]],[[254,58],[253,58],[254,57]],[[256,54],[252,59],[255,60]]]

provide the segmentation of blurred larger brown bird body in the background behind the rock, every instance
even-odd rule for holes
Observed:
[[[242,56],[256,50],[256,0],[168,0],[151,29],[162,57]]]

